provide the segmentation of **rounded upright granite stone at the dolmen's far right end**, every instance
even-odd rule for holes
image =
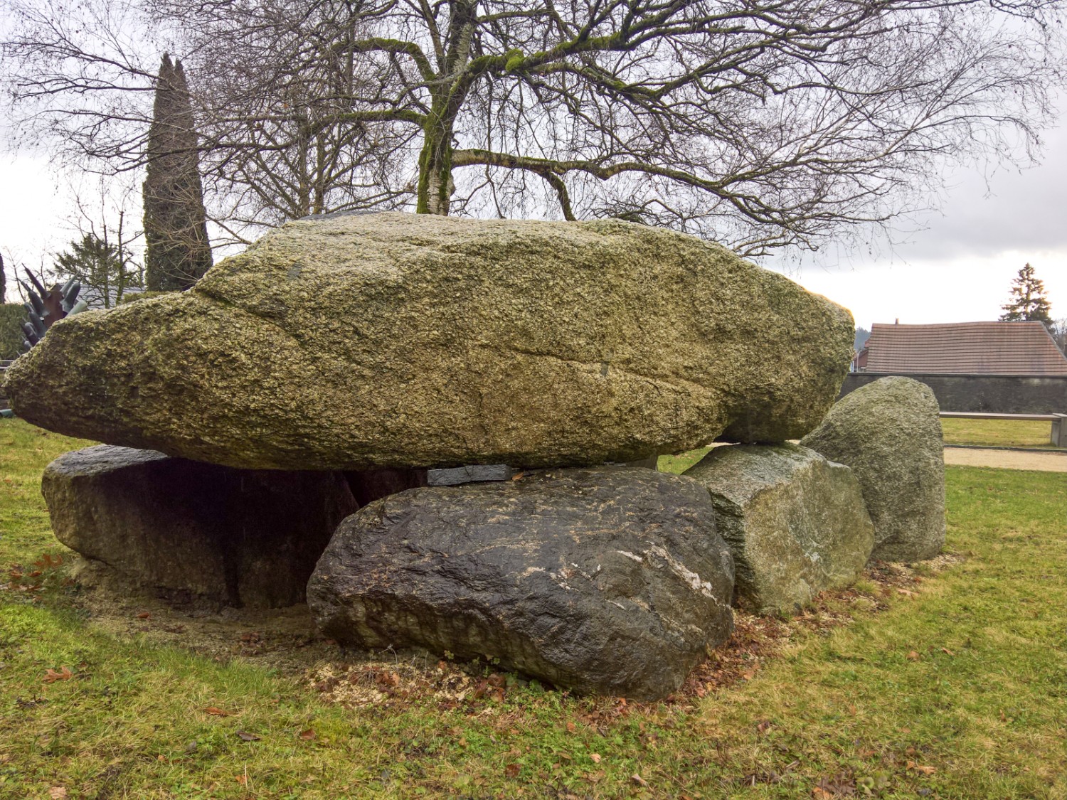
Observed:
[[[921,561],[944,546],[944,444],[937,398],[910,378],[845,395],[801,444],[851,467],[863,490],[872,558]]]

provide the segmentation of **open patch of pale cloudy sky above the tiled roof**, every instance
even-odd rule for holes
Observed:
[[[1063,111],[1061,106],[1061,111]],[[1067,118],[1062,113],[1061,118]],[[940,212],[887,252],[827,253],[799,271],[776,267],[841,303],[856,324],[994,320],[1012,279],[1030,263],[1045,282],[1052,316],[1067,318],[1067,127],[1044,137],[1040,166],[984,176],[956,174]],[[775,267],[773,263],[765,266]]]

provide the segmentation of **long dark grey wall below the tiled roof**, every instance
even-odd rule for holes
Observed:
[[[849,372],[841,397],[860,386],[886,378],[881,372]],[[1067,375],[907,375],[925,383],[937,397],[941,411],[990,414],[1067,413]]]

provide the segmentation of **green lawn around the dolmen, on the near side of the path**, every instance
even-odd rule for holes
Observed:
[[[0,420],[4,800],[1067,797],[1067,475],[950,468],[951,565],[739,619],[729,657],[638,705],[329,643],[270,668],[162,643],[155,618],[116,633],[53,565],[39,475],[78,445]]]

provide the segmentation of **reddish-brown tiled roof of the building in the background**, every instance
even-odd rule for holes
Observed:
[[[1067,357],[1040,322],[871,325],[867,372],[1067,375]]]

